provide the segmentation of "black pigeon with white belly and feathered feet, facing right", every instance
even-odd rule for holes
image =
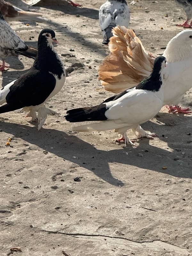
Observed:
[[[23,108],[27,116],[38,122],[38,130],[47,115],[59,115],[45,108],[44,103],[57,94],[65,83],[66,72],[52,42],[57,42],[55,32],[45,28],[38,37],[38,53],[33,66],[17,80],[0,91],[0,114]],[[36,115],[38,112],[38,116]]]

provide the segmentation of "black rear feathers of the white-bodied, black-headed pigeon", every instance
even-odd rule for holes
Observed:
[[[66,120],[70,123],[84,121],[103,121],[107,120],[105,116],[107,108],[105,104],[100,104],[91,108],[75,108],[67,111]]]

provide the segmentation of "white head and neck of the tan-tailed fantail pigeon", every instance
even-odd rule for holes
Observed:
[[[192,30],[186,29],[174,36],[163,54],[168,62],[182,61],[192,57]]]

